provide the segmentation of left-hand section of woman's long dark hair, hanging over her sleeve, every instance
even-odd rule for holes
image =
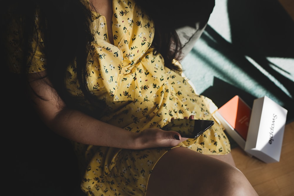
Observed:
[[[86,62],[88,58],[89,43],[93,40],[91,34],[91,11],[86,1],[80,0],[16,0],[5,2],[2,12],[1,24],[4,29],[1,46],[5,47],[6,31],[9,31],[11,21],[16,21],[13,33],[18,33],[17,47],[23,51],[21,73],[24,79],[28,66],[34,66],[33,56],[36,46],[32,40],[39,41],[38,28],[44,33],[46,55],[46,74],[59,96],[72,105],[75,101],[66,89],[64,78],[69,65],[74,66],[80,88],[86,97],[90,93],[86,86]],[[36,21],[38,14],[39,21]],[[10,32],[11,33],[11,32]],[[40,43],[38,43],[40,44]],[[38,45],[37,44],[37,45]],[[5,50],[6,51],[6,50]],[[6,54],[10,56],[14,54]],[[9,63],[6,59],[6,63]],[[41,98],[41,97],[40,97]]]

